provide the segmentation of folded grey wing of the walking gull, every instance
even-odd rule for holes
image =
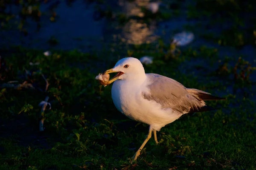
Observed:
[[[150,83],[149,93],[143,92],[144,99],[154,100],[162,105],[162,108],[171,108],[182,114],[189,113],[191,108],[200,108],[205,102],[187,91],[187,89],[169,77],[159,74],[146,74]],[[206,93],[206,92],[205,92]]]

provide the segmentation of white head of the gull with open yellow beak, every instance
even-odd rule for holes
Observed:
[[[133,57],[126,57],[116,62],[116,65],[105,71],[104,74],[117,73],[109,80],[108,85],[117,79],[120,80],[140,80],[146,77],[145,70],[140,60]]]

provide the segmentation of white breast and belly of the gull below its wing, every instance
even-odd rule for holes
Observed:
[[[116,80],[111,94],[117,110],[130,119],[151,125],[155,130],[160,130],[181,116],[173,113],[172,109],[161,109],[157,102],[144,99],[141,89],[145,88],[125,80]]]

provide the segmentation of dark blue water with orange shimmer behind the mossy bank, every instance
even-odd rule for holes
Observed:
[[[37,48],[43,50],[78,49],[83,52],[96,49],[100,50],[108,44],[143,44],[151,43],[159,38],[170,43],[172,36],[182,31],[192,31],[195,34],[195,40],[187,47],[199,48],[201,45],[218,48],[221,57],[232,56],[238,59],[242,56],[249,62],[255,62],[254,54],[256,49],[252,45],[246,45],[241,49],[228,46],[220,46],[215,42],[204,39],[201,34],[211,33],[220,34],[221,30],[230,28],[232,23],[229,20],[224,24],[213,24],[212,20],[189,20],[187,12],[189,6],[195,6],[194,0],[184,0],[179,3],[179,15],[171,17],[169,20],[155,20],[143,22],[138,17],[144,17],[141,8],[149,6],[150,0],[127,0],[111,1],[104,3],[88,3],[83,0],[74,0],[71,6],[66,1],[52,0],[50,3],[42,3],[40,10],[41,28],[38,31],[35,21],[28,20],[26,29],[28,35],[25,36],[16,29],[17,23],[12,29],[0,31],[0,45],[9,47],[11,45],[21,45],[28,48]],[[174,13],[168,6],[176,1],[163,0],[159,11],[162,13]],[[178,2],[178,1],[177,1]],[[57,14],[56,21],[51,22],[51,8]],[[6,11],[19,11],[17,6],[9,6]],[[102,11],[112,11],[113,17],[107,18],[101,16],[98,8]],[[120,25],[117,21],[118,14],[125,14],[131,17],[127,23]],[[137,18],[133,18],[137,16]],[[20,20],[16,14],[15,20]],[[13,21],[15,21],[13,20]],[[250,23],[245,23],[251,25]],[[207,27],[208,26],[208,27]],[[56,45],[49,45],[49,40],[54,37],[58,42]]]

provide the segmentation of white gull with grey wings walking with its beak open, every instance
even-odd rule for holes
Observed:
[[[131,159],[136,160],[140,151],[154,133],[186,113],[212,110],[204,100],[223,100],[221,97],[194,88],[159,74],[146,74],[139,59],[126,57],[104,74],[117,73],[108,81],[113,82],[111,95],[117,110],[130,119],[149,125],[148,135]]]

